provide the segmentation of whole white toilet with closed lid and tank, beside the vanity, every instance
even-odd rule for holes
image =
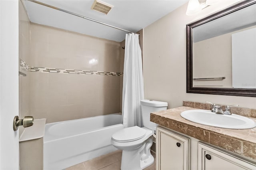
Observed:
[[[112,135],[111,143],[122,150],[121,170],[142,170],[154,163],[150,153],[156,123],[150,122],[150,113],[167,109],[167,103],[141,100],[141,113],[144,127],[128,127]]]

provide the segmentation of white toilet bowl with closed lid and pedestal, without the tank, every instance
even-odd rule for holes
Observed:
[[[135,132],[137,131],[137,132]],[[131,135],[130,140],[122,140],[119,135],[113,134],[112,145],[122,151],[121,170],[142,170],[154,163],[154,157],[150,153],[153,144],[153,131],[146,127],[129,127],[119,130],[122,137]]]

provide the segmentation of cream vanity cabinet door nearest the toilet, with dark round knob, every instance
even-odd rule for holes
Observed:
[[[188,170],[189,138],[165,128],[156,130],[156,169]]]

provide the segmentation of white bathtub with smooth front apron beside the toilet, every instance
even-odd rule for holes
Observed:
[[[44,134],[44,170],[61,170],[117,150],[114,132],[123,128],[122,115],[110,114],[49,123]]]

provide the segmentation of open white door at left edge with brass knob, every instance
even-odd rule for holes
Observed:
[[[18,0],[0,0],[0,169],[19,169],[19,133],[12,127],[19,115]]]

